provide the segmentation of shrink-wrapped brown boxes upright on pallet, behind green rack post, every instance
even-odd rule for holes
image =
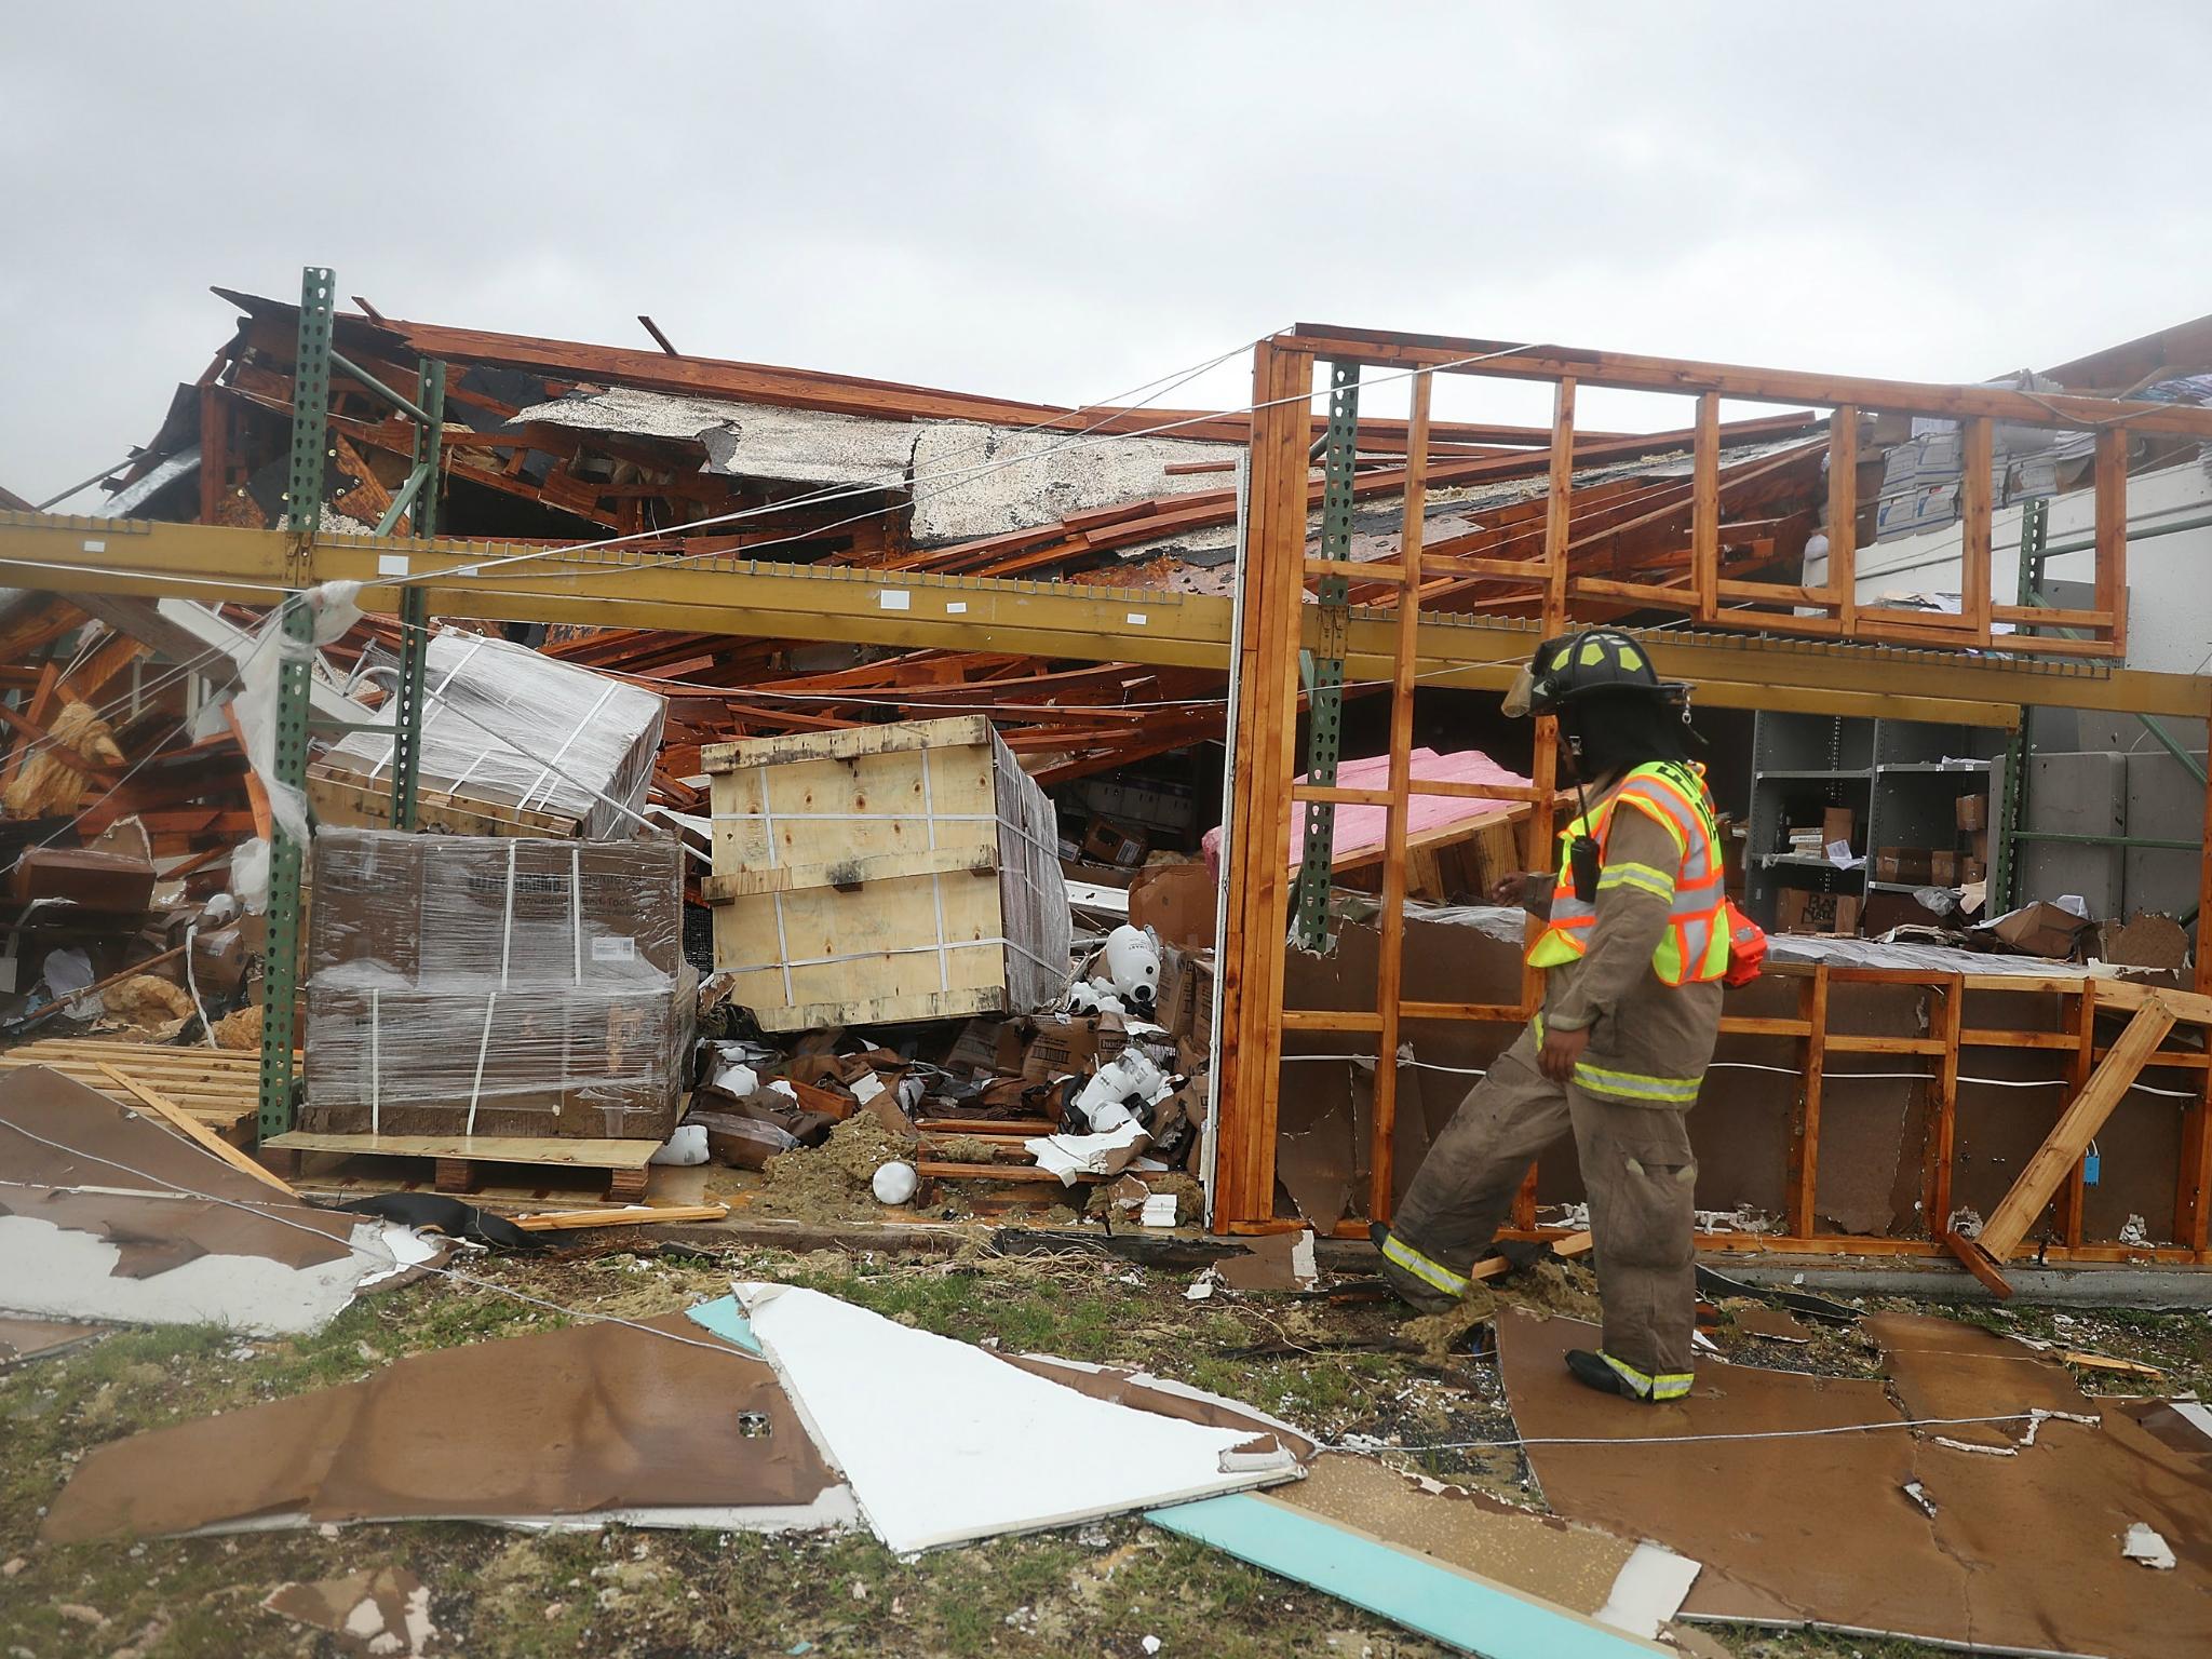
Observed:
[[[301,1128],[666,1139],[699,1000],[681,858],[319,832]]]

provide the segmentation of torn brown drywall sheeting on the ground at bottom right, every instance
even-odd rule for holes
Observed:
[[[2055,1363],[1940,1325],[1889,1327],[1907,1400],[2004,1416],[2066,1398],[2017,1369],[2064,1378]],[[1621,1411],[1566,1371],[1564,1352],[1595,1340],[1577,1321],[1500,1310],[1513,1420],[1535,1442],[1590,1442],[1528,1451],[1557,1513],[1703,1562],[1686,1617],[2106,1659],[2190,1652],[2212,1628],[2212,1546],[2197,1542],[2212,1540],[2212,1458],[2174,1449],[2166,1422],[2190,1431],[2161,1402],[2086,1402],[2101,1420],[1995,1425],[2008,1444],[1978,1444],[1975,1425],[1887,1427],[1907,1413],[1874,1380],[1708,1360],[1688,1400]],[[1805,1433],[1854,1425],[1885,1427]],[[1650,1436],[1681,1442],[1606,1444]],[[2174,1571],[2121,1555],[2135,1522],[2179,1540]]]

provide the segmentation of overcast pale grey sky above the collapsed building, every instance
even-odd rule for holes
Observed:
[[[1984,378],[2212,312],[2205,64],[2201,4],[15,7],[0,484],[144,442],[208,285],[305,263],[1051,403],[1292,321]]]

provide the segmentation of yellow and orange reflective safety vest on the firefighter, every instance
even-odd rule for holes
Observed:
[[[1613,814],[1628,805],[1648,812],[1674,841],[1674,869],[1613,863],[1604,858],[1606,827]],[[1652,951],[1652,973],[1661,984],[1697,984],[1719,980],[1728,971],[1728,896],[1721,869],[1721,830],[1705,790],[1705,768],[1681,761],[1646,761],[1635,768],[1588,821],[1575,818],[1559,836],[1559,878],[1551,896],[1551,922],[1528,949],[1533,967],[1559,967],[1590,949],[1590,927],[1597,905],[1575,898],[1575,872],[1568,847],[1577,836],[1590,836],[1599,847],[1597,891],[1639,887],[1668,900],[1668,929]]]

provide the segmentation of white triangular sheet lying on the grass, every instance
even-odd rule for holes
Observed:
[[[768,1363],[823,1455],[898,1553],[1250,1491],[1290,1453],[1223,1473],[1252,1436],[1093,1400],[967,1343],[796,1285],[737,1285]],[[887,1411],[883,1378],[933,1402],[929,1433]]]

